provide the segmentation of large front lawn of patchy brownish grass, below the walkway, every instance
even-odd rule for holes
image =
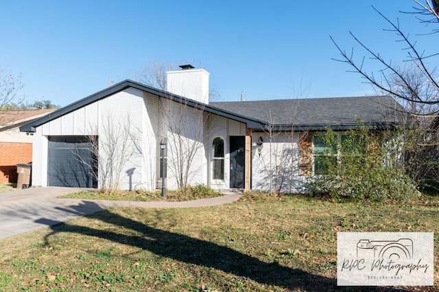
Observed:
[[[401,205],[246,194],[214,207],[112,208],[0,240],[0,290],[393,291],[336,287],[337,232],[437,236],[438,207],[434,196]],[[438,284],[436,267],[435,287],[412,289]]]

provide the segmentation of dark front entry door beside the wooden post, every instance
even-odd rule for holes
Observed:
[[[244,188],[245,146],[245,136],[230,136],[230,188]]]

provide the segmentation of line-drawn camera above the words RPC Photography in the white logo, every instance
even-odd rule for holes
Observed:
[[[413,257],[413,241],[360,239],[357,243],[357,258],[410,259]]]

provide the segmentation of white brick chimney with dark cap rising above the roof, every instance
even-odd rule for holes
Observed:
[[[167,71],[167,91],[178,96],[209,104],[209,72],[181,65],[181,70]]]

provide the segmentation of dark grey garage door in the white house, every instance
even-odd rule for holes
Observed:
[[[49,137],[49,186],[97,188],[91,143],[83,136]],[[97,172],[96,172],[97,173]]]

